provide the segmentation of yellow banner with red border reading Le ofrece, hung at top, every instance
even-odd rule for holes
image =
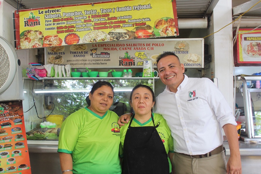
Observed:
[[[179,35],[175,0],[114,0],[14,12],[15,47]]]

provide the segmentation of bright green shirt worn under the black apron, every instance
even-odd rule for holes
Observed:
[[[152,115],[153,115],[155,126],[157,125],[158,122],[160,122],[160,125],[156,128],[156,130],[158,131],[159,136],[164,144],[166,153],[168,153],[168,152],[174,153],[173,138],[171,136],[171,131],[168,128],[166,120],[160,114],[152,113]],[[123,146],[124,139],[125,139],[126,131],[128,130],[129,123],[125,124],[120,129],[121,130],[121,144],[122,144],[123,149],[124,149],[124,146]],[[133,121],[131,123],[131,127],[142,127],[142,126],[154,126],[152,119],[150,118],[145,123],[140,123],[135,118],[133,119]],[[123,157],[123,154],[121,154],[121,157]],[[124,160],[124,158],[123,158],[123,160]],[[169,171],[171,172],[172,167],[171,167],[171,162],[170,162],[169,158],[168,158],[168,163],[169,163]]]

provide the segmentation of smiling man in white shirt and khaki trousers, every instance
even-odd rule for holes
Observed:
[[[214,83],[188,78],[184,65],[171,52],[158,56],[157,68],[166,89],[156,98],[153,112],[162,114],[171,129],[175,174],[242,174],[235,117]],[[119,122],[128,122],[126,118]],[[231,154],[227,165],[221,128]]]

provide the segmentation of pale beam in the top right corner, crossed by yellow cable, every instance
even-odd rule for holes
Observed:
[[[253,5],[255,5],[255,3],[257,3],[258,1],[259,0],[251,0],[251,1],[248,1],[246,3],[241,4],[239,6],[233,7],[232,8],[232,16],[246,12],[249,8],[251,8]],[[260,9],[260,8],[261,8],[261,3],[258,3],[253,8],[251,8],[249,11],[257,10],[257,9]]]

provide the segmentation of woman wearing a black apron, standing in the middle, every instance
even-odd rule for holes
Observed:
[[[154,104],[150,87],[133,88],[130,105],[135,115],[120,129],[124,174],[171,173],[168,153],[174,153],[173,138],[163,117],[151,112]]]

